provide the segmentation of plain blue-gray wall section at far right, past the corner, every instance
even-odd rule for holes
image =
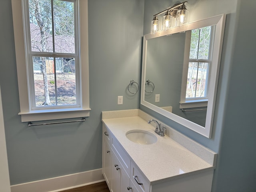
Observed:
[[[241,0],[237,9],[234,54],[213,188],[216,192],[256,191],[255,8],[255,0]]]

